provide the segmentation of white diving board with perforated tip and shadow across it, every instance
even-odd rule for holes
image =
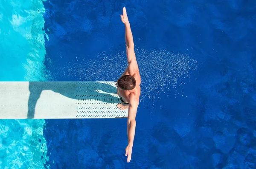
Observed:
[[[127,118],[115,82],[0,82],[0,119]]]

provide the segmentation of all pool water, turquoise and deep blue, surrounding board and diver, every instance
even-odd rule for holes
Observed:
[[[0,120],[4,168],[256,168],[256,1],[0,1],[1,81],[115,81],[126,6],[142,78],[125,119]]]

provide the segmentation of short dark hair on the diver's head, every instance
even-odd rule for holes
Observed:
[[[136,86],[136,80],[131,75],[124,75],[117,80],[117,85],[122,90],[132,90]]]

